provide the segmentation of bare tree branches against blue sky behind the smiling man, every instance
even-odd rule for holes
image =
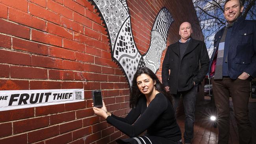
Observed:
[[[193,0],[195,10],[198,16],[199,24],[202,28],[205,42],[211,53],[210,47],[213,45],[213,38],[217,31],[225,25],[223,15],[224,4],[226,0]],[[242,0],[244,10],[243,17],[256,20],[256,0]],[[211,54],[210,54],[211,55]]]

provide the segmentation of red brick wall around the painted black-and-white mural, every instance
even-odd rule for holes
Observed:
[[[174,18],[167,45],[184,21],[202,39],[192,0],[127,0],[135,43],[143,54],[165,6]],[[1,144],[115,144],[126,137],[95,116],[91,90],[101,89],[112,113],[129,109],[128,83],[111,60],[107,33],[87,0],[0,0],[0,90],[84,89],[77,103],[0,112]],[[162,55],[162,60],[165,54]],[[158,71],[161,78],[161,68]]]

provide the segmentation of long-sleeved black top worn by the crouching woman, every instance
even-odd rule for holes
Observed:
[[[143,95],[125,118],[111,114],[106,120],[129,137],[138,136],[147,130],[146,136],[166,138],[167,142],[181,139],[173,105],[161,93],[156,94],[148,107],[146,97]]]

